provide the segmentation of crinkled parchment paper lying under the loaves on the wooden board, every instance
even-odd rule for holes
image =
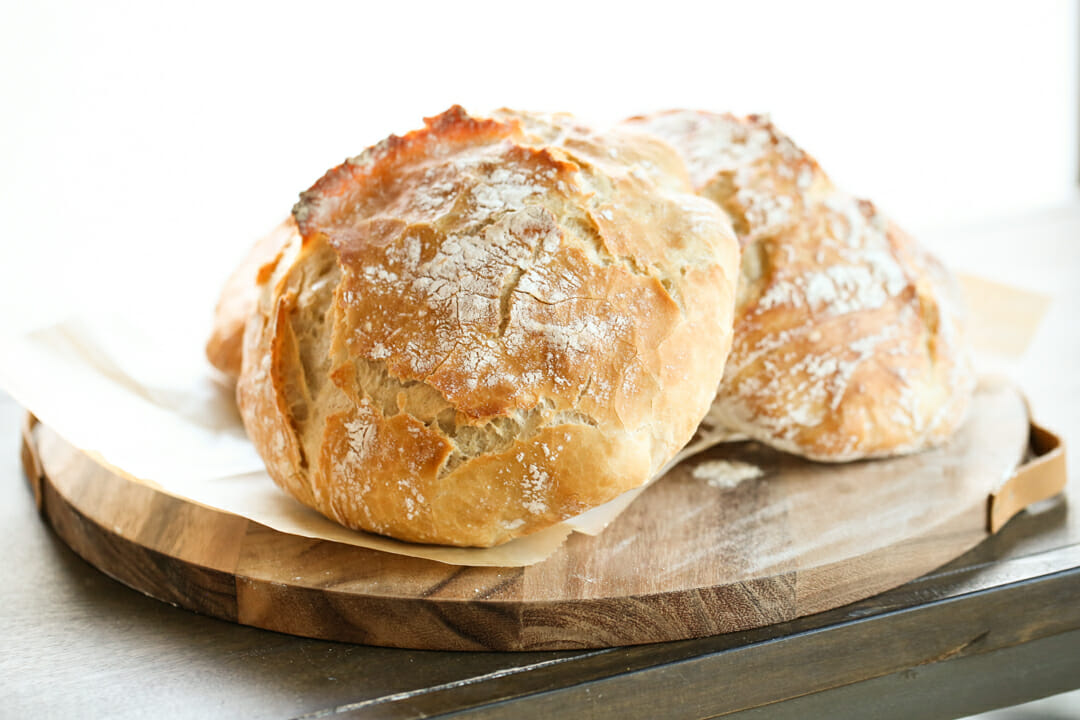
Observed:
[[[976,347],[1018,356],[1049,299],[962,279]],[[539,562],[570,532],[595,534],[644,488],[552,528],[491,548],[404,543],[343,528],[301,505],[267,475],[248,441],[232,392],[203,357],[200,332],[156,316],[71,317],[9,338],[0,386],[68,443],[133,480],[244,516],[282,532],[349,543],[451,565],[516,567]],[[667,467],[730,436],[702,423]],[[663,475],[661,471],[660,475]]]

